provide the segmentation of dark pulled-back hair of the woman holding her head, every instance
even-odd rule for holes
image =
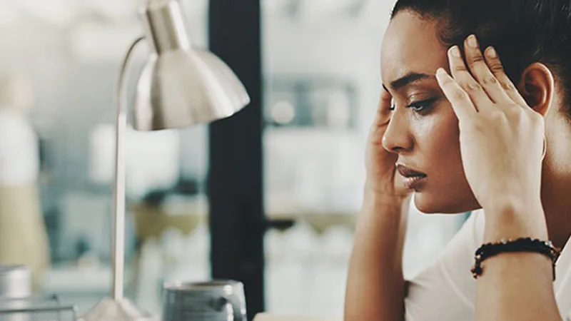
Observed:
[[[398,0],[392,17],[401,11],[438,21],[445,46],[476,34],[482,48],[497,49],[515,83],[527,66],[544,63],[571,116],[571,0]]]

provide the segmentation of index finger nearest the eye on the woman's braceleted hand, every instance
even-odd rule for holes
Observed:
[[[439,68],[436,72],[436,79],[458,120],[468,121],[477,112],[468,93],[443,68]]]

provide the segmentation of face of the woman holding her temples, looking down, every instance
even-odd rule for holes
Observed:
[[[435,78],[438,68],[450,69],[447,51],[435,21],[409,11],[390,22],[381,51],[383,86],[394,108],[383,146],[398,154],[398,165],[426,175],[412,186],[424,213],[479,208],[462,167],[458,119]]]

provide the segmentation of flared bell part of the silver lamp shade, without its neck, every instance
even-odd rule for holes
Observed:
[[[167,51],[148,58],[141,73],[133,127],[153,131],[209,123],[249,102],[246,88],[217,56],[197,49]]]

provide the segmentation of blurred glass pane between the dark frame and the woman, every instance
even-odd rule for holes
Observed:
[[[266,235],[269,312],[343,315],[380,44],[394,2],[262,1],[266,213],[296,221]],[[413,210],[405,275],[425,266],[458,225]]]

